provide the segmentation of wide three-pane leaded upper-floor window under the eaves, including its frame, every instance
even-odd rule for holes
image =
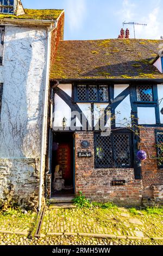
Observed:
[[[75,92],[77,102],[109,102],[109,88],[106,85],[78,84]]]

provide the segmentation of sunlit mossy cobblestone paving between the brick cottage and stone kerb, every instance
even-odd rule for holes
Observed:
[[[116,236],[162,237],[162,216],[127,209],[47,209],[41,233],[94,233]]]

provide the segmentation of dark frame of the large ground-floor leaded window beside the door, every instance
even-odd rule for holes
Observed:
[[[112,165],[108,166],[99,166],[96,163],[96,135],[100,135],[101,132],[95,132],[94,133],[94,166],[95,169],[112,169],[112,168],[134,168],[134,152],[133,152],[133,133],[129,131],[128,129],[120,129],[120,130],[112,130],[111,131],[111,154],[112,154]],[[115,164],[115,149],[114,149],[114,142],[113,142],[113,137],[114,135],[120,135],[120,134],[128,134],[129,136],[129,154],[130,154],[130,165],[120,165],[117,166]]]

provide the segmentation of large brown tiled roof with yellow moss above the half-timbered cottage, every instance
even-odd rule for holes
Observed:
[[[51,78],[163,78],[151,63],[161,40],[60,41]]]

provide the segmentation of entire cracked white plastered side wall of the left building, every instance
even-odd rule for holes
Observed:
[[[30,207],[38,203],[46,62],[46,29],[5,27],[0,198]]]

